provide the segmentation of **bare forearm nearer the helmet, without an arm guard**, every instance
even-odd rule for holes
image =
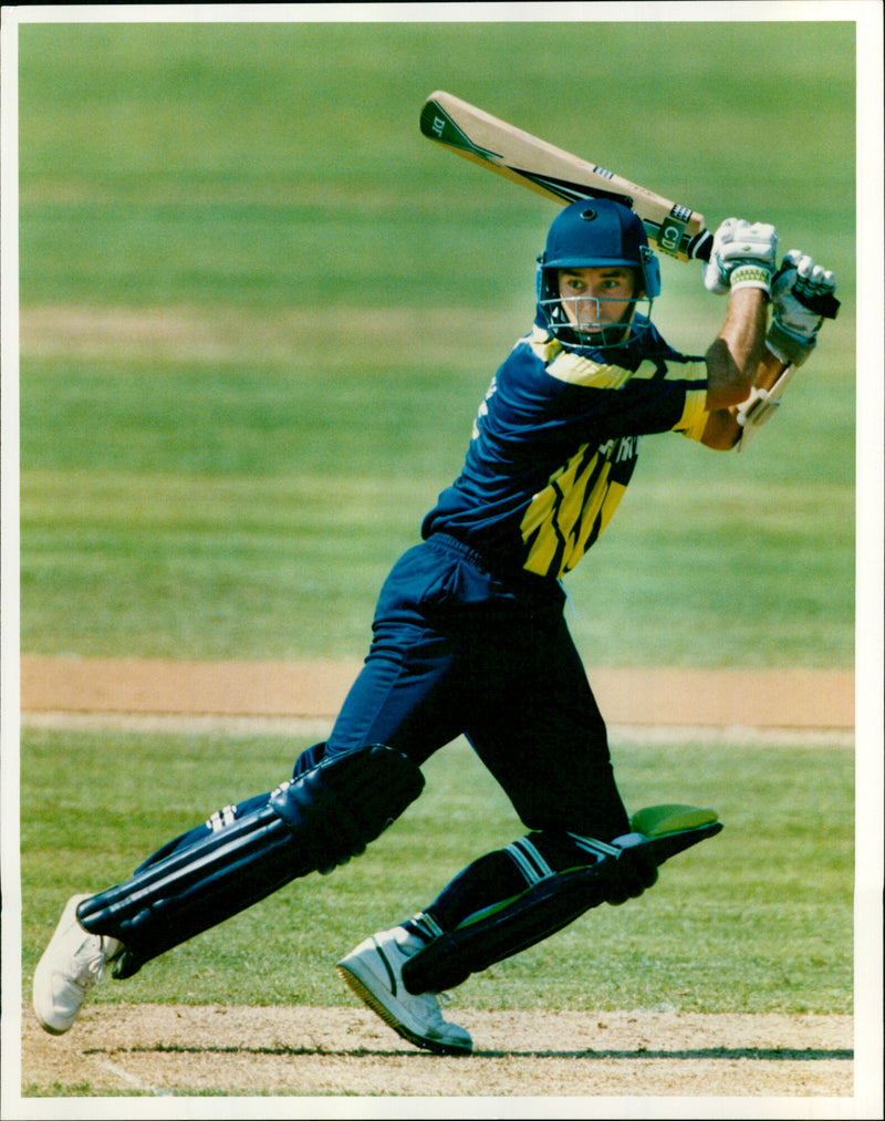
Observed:
[[[707,351],[707,409],[715,414],[748,397],[765,359],[767,299],[758,288],[728,298],[725,324]]]

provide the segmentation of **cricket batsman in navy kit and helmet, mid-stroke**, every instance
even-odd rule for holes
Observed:
[[[492,378],[460,473],[381,589],[369,655],[328,740],[274,790],[220,809],[125,882],[68,900],[34,976],[47,1031],[74,1025],[108,967],[130,978],[291,880],[363,853],[419,796],[422,765],[462,735],[523,835],[477,854],[436,899],[337,963],[418,1047],[468,1054],[471,1035],[442,1018],[440,993],[590,908],[639,897],[669,856],[721,828],[689,806],[628,815],[566,624],[563,578],[612,520],[643,436],[728,451],[772,416],[821,327],[808,297],[831,296],[835,277],[798,251],[779,265],[772,225],[728,219],[702,268],[724,322],[695,355],[653,325],[659,261],[617,202],[560,211],[535,277],[533,325]]]

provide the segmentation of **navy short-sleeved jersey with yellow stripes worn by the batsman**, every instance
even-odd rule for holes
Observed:
[[[559,577],[574,568],[621,501],[640,437],[674,430],[699,439],[707,420],[704,359],[644,327],[606,355],[563,348],[538,324],[519,340],[422,536],[450,534],[495,571]]]

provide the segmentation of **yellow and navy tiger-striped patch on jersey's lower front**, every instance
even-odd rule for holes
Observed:
[[[520,524],[529,546],[524,563],[529,572],[561,576],[575,567],[608,525],[626,490],[608,478],[608,456],[620,446],[621,441],[615,441],[590,454],[589,446],[581,445],[532,498]]]

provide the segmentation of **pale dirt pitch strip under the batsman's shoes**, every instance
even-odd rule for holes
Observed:
[[[85,1085],[91,1094],[146,1095],[853,1094],[848,1016],[469,1008],[455,1016],[455,1007],[449,1016],[474,1037],[468,1057],[419,1051],[356,1007],[96,1004],[60,1037],[26,1010],[22,1086],[38,1096]]]

